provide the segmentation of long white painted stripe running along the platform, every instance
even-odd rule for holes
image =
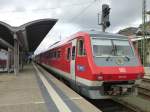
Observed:
[[[38,68],[34,64],[33,66],[37,70],[40,79],[42,80],[44,86],[46,87],[48,94],[51,96],[52,100],[55,102],[58,110],[60,112],[71,112],[69,107],[64,103],[64,101],[61,99],[58,93],[53,89],[53,87],[48,83],[46,78],[43,75],[41,75],[41,72],[38,70]]]

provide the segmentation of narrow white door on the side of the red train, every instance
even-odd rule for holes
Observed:
[[[77,41],[76,39],[72,40],[71,61],[70,61],[71,75],[72,79],[75,82],[76,82],[76,75],[75,75],[76,41]]]

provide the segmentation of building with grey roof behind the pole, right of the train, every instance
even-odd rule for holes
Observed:
[[[139,27],[129,27],[126,29],[122,29],[118,32],[121,35],[129,36],[135,49],[137,49],[139,56],[141,58],[141,62],[143,63],[143,57],[145,58],[145,66],[150,66],[150,22],[146,23],[145,32],[142,31],[142,24]],[[143,37],[145,33],[145,39]],[[143,47],[143,40],[145,45],[145,50]],[[143,53],[144,52],[144,53]],[[143,55],[144,54],[144,55]]]

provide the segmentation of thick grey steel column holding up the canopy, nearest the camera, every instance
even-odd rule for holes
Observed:
[[[14,33],[14,73],[15,75],[18,74],[19,72],[19,43],[18,43],[18,39],[17,39],[17,34]]]

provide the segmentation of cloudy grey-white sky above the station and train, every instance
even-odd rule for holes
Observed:
[[[101,30],[97,13],[101,5],[110,4],[111,26],[108,32],[138,26],[141,23],[142,0],[0,0],[0,21],[12,26],[43,18],[58,19],[36,52],[79,30]],[[147,0],[147,9],[150,7]]]

